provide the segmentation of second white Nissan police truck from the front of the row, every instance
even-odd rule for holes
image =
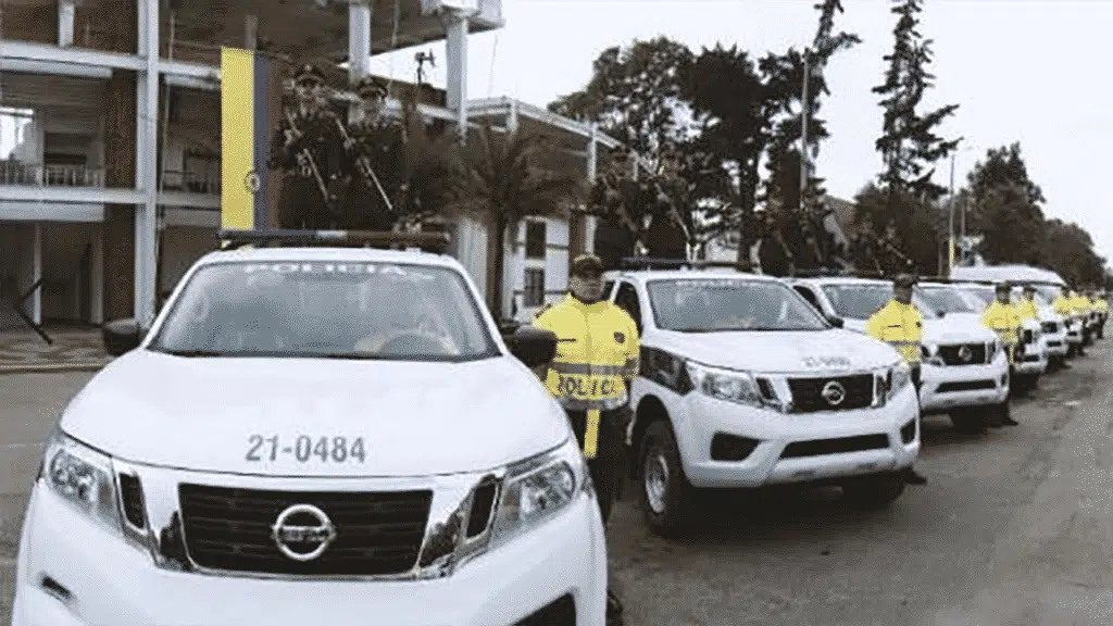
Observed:
[[[653,531],[684,528],[703,488],[836,483],[865,507],[900,496],[920,442],[893,348],[768,276],[641,258],[609,278],[641,334],[628,444]]]

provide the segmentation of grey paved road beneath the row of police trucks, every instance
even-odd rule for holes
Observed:
[[[930,482],[892,509],[837,491],[723,495],[687,539],[623,503],[611,559],[633,626],[1113,624],[1113,342],[1046,378],[1022,426],[959,437],[929,419]],[[88,374],[0,376],[0,625],[39,442]]]

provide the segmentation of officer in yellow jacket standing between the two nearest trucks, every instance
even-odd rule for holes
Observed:
[[[598,256],[575,257],[569,294],[541,312],[533,325],[560,339],[549,364],[545,388],[568,412],[588,459],[603,524],[622,480],[623,436],[630,419],[630,382],[638,375],[638,326],[619,306],[603,300],[603,264]],[[607,590],[608,623],[620,623],[622,604]]]

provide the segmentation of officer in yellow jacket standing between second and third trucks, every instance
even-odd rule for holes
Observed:
[[[893,300],[874,313],[866,322],[866,332],[869,336],[888,343],[904,356],[908,366],[912,368],[912,382],[916,387],[916,397],[919,398],[920,376],[920,343],[924,339],[924,319],[919,310],[912,303],[912,293],[916,286],[916,278],[909,274],[900,274],[893,281]],[[920,419],[920,433],[924,432],[923,419]],[[905,480],[909,485],[926,485],[927,478],[913,468],[905,472]]]

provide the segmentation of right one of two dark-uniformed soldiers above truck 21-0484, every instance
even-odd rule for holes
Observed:
[[[390,231],[405,202],[402,127],[383,119],[386,88],[378,80],[364,77],[355,86],[355,94],[363,107],[363,119],[344,128],[342,219],[347,228]]]

